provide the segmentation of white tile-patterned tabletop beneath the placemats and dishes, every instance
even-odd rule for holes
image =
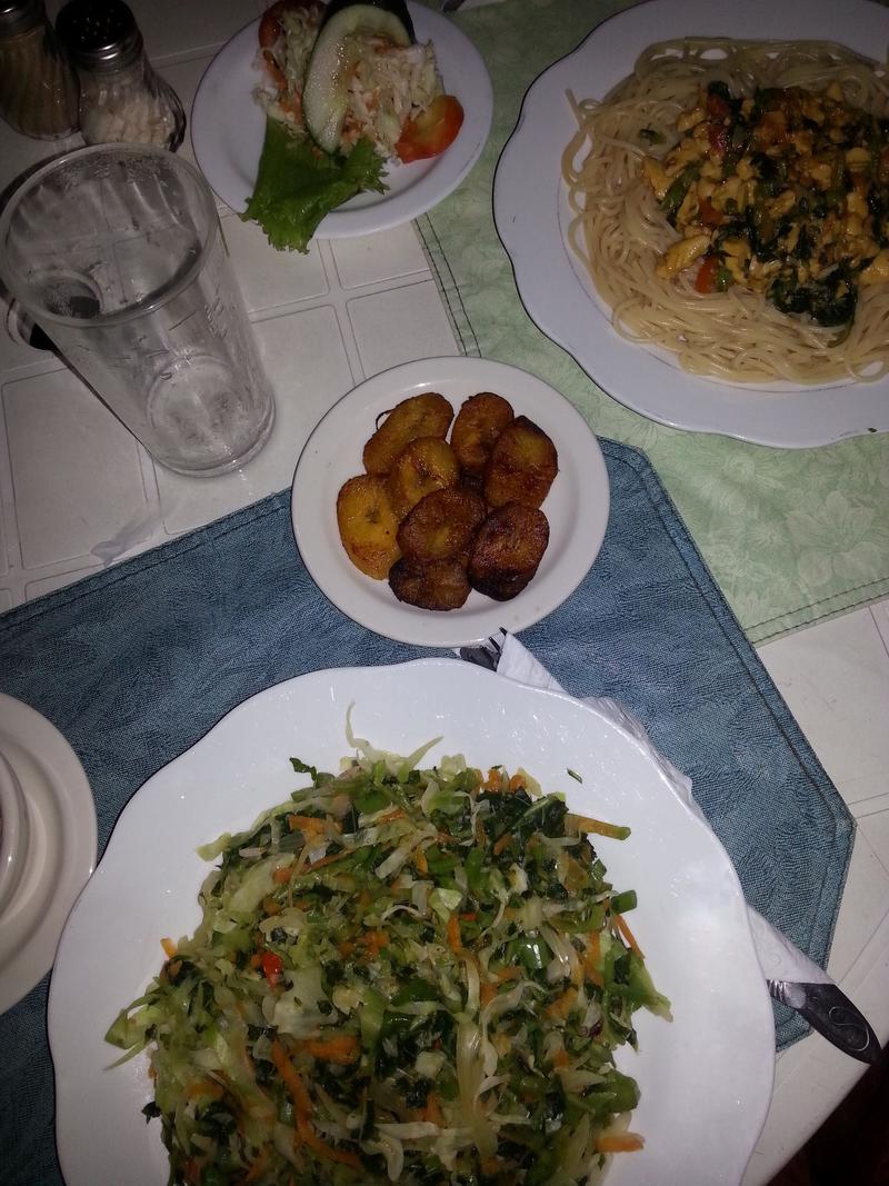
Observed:
[[[58,0],[49,5],[51,13]],[[149,53],[190,107],[219,45],[260,0],[132,0]],[[72,140],[71,144],[78,144]],[[0,187],[52,151],[0,126]],[[191,157],[186,138],[183,148]],[[363,378],[459,352],[410,225],[271,251],[220,208],[277,401],[266,449],[212,482],[156,468],[50,353],[0,325],[0,610],[21,605],[289,485],[308,433]],[[889,1040],[889,602],[760,648],[816,753],[858,821],[830,959]],[[826,1118],[861,1064],[812,1035],[778,1059],[775,1093],[744,1186],[767,1182]]]

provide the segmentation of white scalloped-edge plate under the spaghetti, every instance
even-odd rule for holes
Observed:
[[[839,7],[836,0],[648,0],[599,25],[532,84],[497,167],[494,219],[522,301],[605,391],[661,423],[784,448],[885,432],[889,380],[727,384],[689,375],[666,351],[628,342],[612,329],[609,310],[568,246],[561,158],[577,125],[565,93],[603,98],[646,46],[692,36],[834,40],[883,60],[889,12],[869,0]]]

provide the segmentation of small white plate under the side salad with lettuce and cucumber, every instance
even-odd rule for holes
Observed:
[[[390,165],[385,193],[359,193],[320,223],[319,238],[348,238],[388,230],[441,202],[479,159],[491,130],[493,96],[485,63],[456,25],[409,4],[418,42],[431,40],[444,89],[463,108],[456,140],[440,157]],[[202,172],[222,200],[241,213],[252,193],[266,135],[266,115],[254,98],[258,21],[242,28],[207,66],[194,96],[191,140]]]

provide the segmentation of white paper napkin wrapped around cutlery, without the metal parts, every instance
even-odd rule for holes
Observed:
[[[554,680],[543,664],[538,663],[527,648],[517,638],[513,638],[512,635],[506,636],[497,674],[506,676],[507,680],[516,680],[517,683],[530,684],[532,688],[550,688],[555,691],[564,691],[564,688]],[[661,753],[658,753],[651,744],[642,725],[632,713],[606,696],[587,696],[583,703],[590,704],[608,720],[637,738],[664,771],[665,777],[679,798],[691,808],[695,815],[708,828],[710,827],[703,811],[695,802],[691,779],[678,771]],[[833,983],[823,968],[819,968],[807,955],[804,955],[799,948],[794,946],[786,936],[767,922],[753,906],[747,907],[747,913],[763,976],[768,980],[791,980],[806,984]]]

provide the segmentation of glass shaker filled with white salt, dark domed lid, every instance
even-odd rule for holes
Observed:
[[[77,68],[87,144],[126,141],[175,152],[185,135],[183,104],[152,68],[123,0],[69,0],[56,31]]]

